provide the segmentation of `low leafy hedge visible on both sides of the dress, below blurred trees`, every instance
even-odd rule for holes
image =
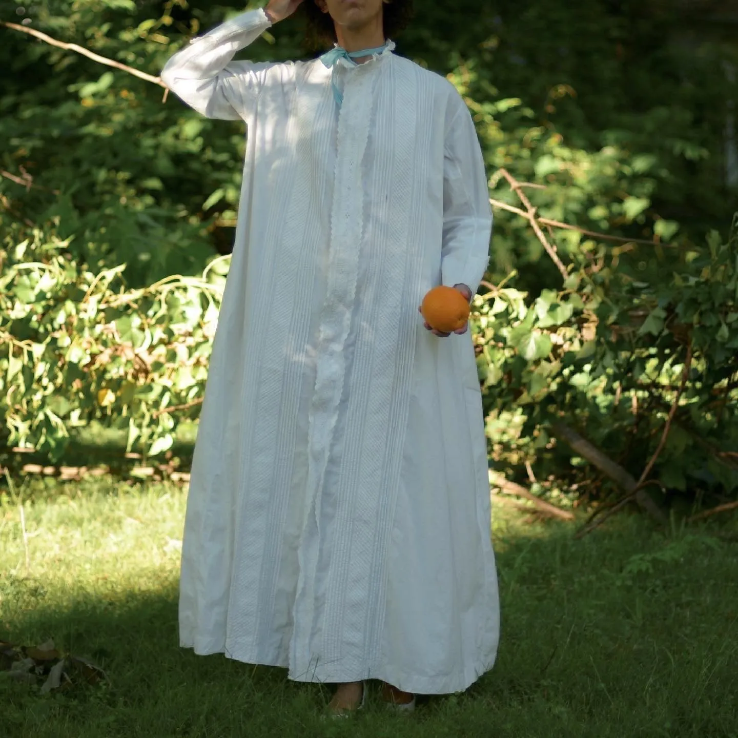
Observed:
[[[582,462],[570,463],[556,442],[557,426],[580,430],[635,477],[663,435],[654,477],[663,489],[732,492],[738,231],[725,244],[712,233],[706,252],[675,265],[668,286],[618,272],[611,249],[590,244],[595,266],[571,272],[560,290],[532,297],[486,283],[475,297],[492,463],[515,475],[528,462],[539,491],[591,493]],[[97,420],[126,428],[128,450],[165,452],[202,399],[229,257],[201,277],[127,289],[125,265],[81,269],[53,233],[34,231],[0,255],[8,347],[0,411],[9,442],[60,458],[69,427]]]

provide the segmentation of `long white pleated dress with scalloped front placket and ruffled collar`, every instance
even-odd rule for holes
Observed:
[[[492,213],[472,118],[444,77],[232,61],[254,10],[162,72],[247,127],[241,203],[193,458],[179,632],[300,681],[466,689],[499,605],[472,337],[418,313],[476,290]]]

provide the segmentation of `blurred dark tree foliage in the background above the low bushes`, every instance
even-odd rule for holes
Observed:
[[[230,0],[12,2],[31,27],[152,75],[188,37],[244,8]],[[685,45],[679,10],[655,0],[416,5],[398,52],[452,75],[491,173],[505,166],[547,186],[536,193],[541,215],[691,245],[728,221],[736,193],[725,185],[723,130],[738,85],[716,70],[736,61],[732,46]],[[230,249],[241,124],[204,120],[173,96],[162,103],[158,86],[20,32],[4,38],[0,139],[10,145],[0,164],[38,185],[26,191],[0,179],[6,213],[37,224],[56,218],[61,238],[74,236],[75,255],[92,269],[125,261],[135,286],[197,274],[213,249]],[[305,58],[301,14],[248,55]],[[578,249],[570,234],[557,245],[565,255]],[[537,292],[555,278],[514,215],[498,213],[492,256],[492,276],[518,269],[521,289]]]

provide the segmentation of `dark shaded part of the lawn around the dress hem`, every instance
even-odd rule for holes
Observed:
[[[669,541],[628,518],[580,542],[571,533],[553,523],[497,531],[503,627],[492,672],[465,694],[425,698],[410,719],[386,716],[375,698],[340,725],[319,719],[325,686],[180,649],[175,584],[60,611],[18,580],[18,598],[36,605],[0,623],[1,637],[53,638],[110,683],[40,697],[0,680],[4,734],[738,737],[734,548]]]

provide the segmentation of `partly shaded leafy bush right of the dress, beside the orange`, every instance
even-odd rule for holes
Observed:
[[[612,249],[592,244],[594,266],[559,291],[531,300],[500,283],[476,297],[497,463],[535,462],[544,477],[575,483],[576,463],[551,441],[563,421],[638,478],[678,403],[656,466],[663,489],[738,488],[738,215],[728,243],[717,232],[707,241],[672,263],[668,282],[635,280],[627,265],[613,268]]]

